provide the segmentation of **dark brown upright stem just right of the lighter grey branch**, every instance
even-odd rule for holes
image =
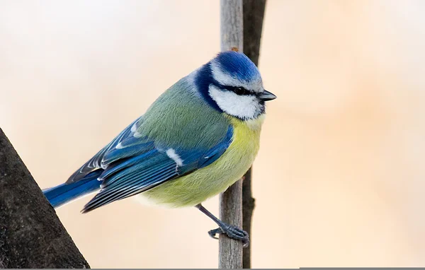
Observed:
[[[244,54],[257,66],[259,65],[260,40],[263,30],[264,11],[266,0],[243,0],[244,11]],[[255,200],[251,192],[252,168],[246,172],[242,183],[242,209],[243,228],[251,237],[251,218],[254,211]],[[251,268],[251,245],[244,249],[243,267]]]

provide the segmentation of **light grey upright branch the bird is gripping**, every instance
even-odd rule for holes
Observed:
[[[242,0],[220,1],[221,50],[244,49]],[[234,183],[220,195],[220,218],[242,228],[242,181]],[[242,268],[242,242],[220,235],[219,268]]]

